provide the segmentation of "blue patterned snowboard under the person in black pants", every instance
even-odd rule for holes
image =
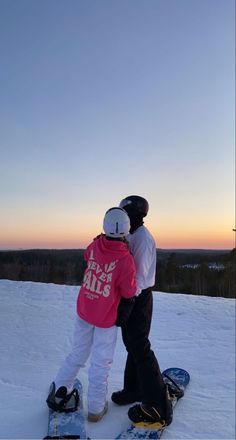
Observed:
[[[173,380],[183,391],[190,381],[190,375],[182,368],[168,368],[162,372],[165,383],[172,383]],[[173,384],[173,383],[172,383]],[[181,398],[182,399],[182,398]],[[172,406],[177,403],[177,399],[172,400]],[[169,425],[170,426],[170,425]],[[131,425],[126,431],[121,432],[116,439],[159,439],[166,427],[161,429],[140,428]]]

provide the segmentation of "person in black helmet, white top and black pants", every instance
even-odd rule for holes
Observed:
[[[122,338],[128,352],[124,370],[124,388],[114,392],[111,399],[118,405],[141,402],[131,407],[128,416],[142,426],[172,421],[172,405],[157,358],[151,349],[149,332],[152,320],[152,287],[156,275],[156,244],[143,224],[149,205],[140,196],[128,196],[120,202],[130,218],[127,236],[136,267],[138,295],[125,326]]]

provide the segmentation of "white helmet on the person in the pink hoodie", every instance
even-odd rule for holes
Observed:
[[[122,208],[111,208],[105,214],[103,229],[108,237],[122,238],[128,235],[130,219],[127,212]]]

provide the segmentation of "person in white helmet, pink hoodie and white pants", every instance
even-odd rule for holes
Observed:
[[[122,298],[136,295],[134,259],[125,237],[130,220],[122,208],[109,209],[104,234],[87,247],[87,267],[77,298],[77,316],[71,353],[59,369],[47,398],[49,408],[74,411],[78,393],[74,380],[88,357],[88,420],[99,421],[108,409],[107,381],[117,338],[117,314]]]

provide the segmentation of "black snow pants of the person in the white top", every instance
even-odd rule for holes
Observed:
[[[128,352],[124,390],[139,392],[144,404],[162,406],[165,384],[149,341],[152,309],[153,297],[149,288],[136,298],[132,313],[122,328],[122,338]]]

